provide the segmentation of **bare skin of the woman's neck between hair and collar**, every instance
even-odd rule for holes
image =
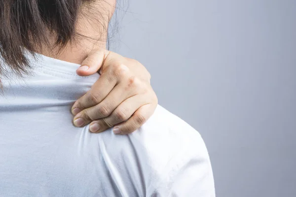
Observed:
[[[40,54],[47,57],[71,62],[75,64],[81,64],[87,57],[89,52],[93,49],[105,49],[107,42],[107,28],[109,21],[112,17],[115,7],[115,0],[99,1],[92,6],[92,13],[90,17],[86,16],[89,13],[88,9],[84,9],[78,17],[76,24],[76,31],[82,35],[86,35],[89,38],[79,37],[70,44],[68,43],[62,53],[55,55],[55,53],[48,48],[42,49]],[[96,16],[93,11],[97,9],[99,15]],[[54,38],[49,38],[53,40]]]

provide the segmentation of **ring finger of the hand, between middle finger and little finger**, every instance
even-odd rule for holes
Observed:
[[[110,116],[95,120],[90,124],[89,130],[91,132],[102,132],[114,125],[122,123],[128,120],[137,109],[141,106],[147,104],[149,100],[147,95],[136,95],[134,97],[124,100],[112,113]]]

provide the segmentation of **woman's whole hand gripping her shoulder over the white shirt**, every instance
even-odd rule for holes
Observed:
[[[90,123],[91,132],[113,126],[115,134],[127,134],[141,127],[153,114],[157,97],[150,86],[150,74],[138,61],[107,50],[94,50],[76,70],[88,76],[99,70],[100,78],[73,107],[74,125]]]

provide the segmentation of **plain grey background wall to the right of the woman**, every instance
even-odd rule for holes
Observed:
[[[129,2],[111,49],[202,134],[217,197],[296,197],[296,0]]]

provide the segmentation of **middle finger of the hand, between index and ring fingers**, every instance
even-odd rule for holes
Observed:
[[[139,85],[137,85],[136,82],[134,82],[132,85],[126,85],[126,83],[122,83],[115,86],[111,93],[102,102],[79,112],[74,117],[74,125],[77,127],[82,127],[92,122],[93,120],[108,117],[116,109],[116,107],[120,105],[120,103],[140,93],[137,92],[137,87],[139,87]],[[78,122],[76,122],[77,119],[79,119]],[[81,125],[81,119],[83,120],[83,125]]]

